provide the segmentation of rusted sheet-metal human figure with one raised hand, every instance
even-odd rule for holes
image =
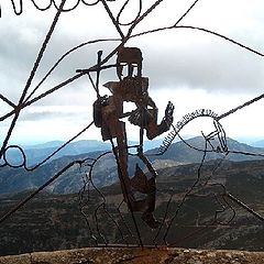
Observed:
[[[119,179],[123,193],[124,201],[132,211],[143,212],[142,219],[145,223],[155,229],[160,222],[154,218],[157,173],[152,167],[150,161],[143,154],[143,136],[146,131],[147,139],[167,131],[173,122],[174,106],[168,102],[165,118],[161,124],[157,124],[157,107],[148,96],[148,78],[142,77],[142,53],[136,47],[122,47],[118,52],[117,75],[119,81],[109,81],[107,87],[112,96],[99,97],[94,103],[95,124],[101,128],[102,140],[117,139],[117,146],[113,147],[118,161]],[[128,66],[128,76],[123,77],[123,67]],[[134,68],[138,73],[133,76]],[[135,110],[123,112],[123,102],[134,102]],[[146,176],[135,166],[133,177],[128,173],[128,141],[125,123],[122,118],[129,118],[129,121],[140,127],[140,144],[138,146],[138,156],[145,164],[151,176]],[[135,194],[140,193],[143,199],[136,199]]]

